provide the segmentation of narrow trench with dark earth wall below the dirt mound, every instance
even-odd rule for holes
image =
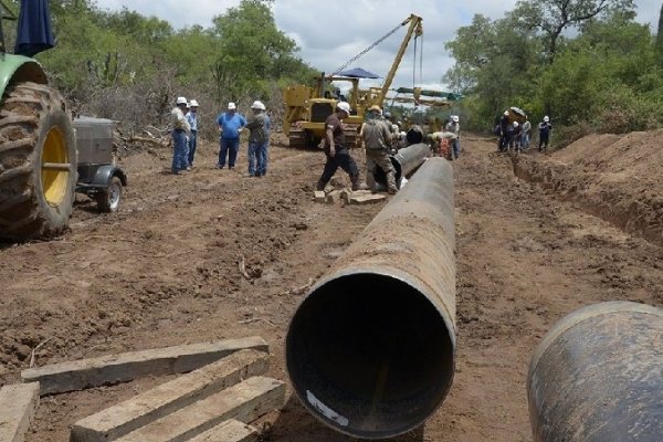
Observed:
[[[663,198],[653,190],[610,182],[604,173],[578,171],[569,165],[512,155],[514,175],[536,183],[564,201],[577,203],[585,212],[620,230],[663,245]]]

